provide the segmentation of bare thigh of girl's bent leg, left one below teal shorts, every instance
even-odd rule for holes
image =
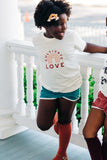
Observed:
[[[41,130],[47,130],[52,126],[53,118],[57,109],[57,99],[44,100],[40,99],[37,125]]]

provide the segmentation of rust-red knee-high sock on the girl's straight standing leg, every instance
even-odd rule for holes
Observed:
[[[66,150],[71,137],[71,123],[58,124],[59,126],[59,149],[53,160],[62,160],[61,157],[67,157]],[[67,159],[66,159],[67,160]]]

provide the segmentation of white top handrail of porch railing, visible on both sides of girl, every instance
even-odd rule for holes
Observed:
[[[23,53],[27,56],[37,56],[35,52],[35,47],[30,41],[11,40],[6,43],[6,46],[9,52],[15,52],[18,54]],[[90,66],[90,62],[91,62],[91,65],[94,65],[94,66],[104,64],[105,59],[107,59],[106,54],[101,54],[101,53],[90,54],[86,52],[82,52],[82,54],[77,53],[75,57],[77,58],[79,63],[82,63],[84,65],[89,65],[89,66]]]

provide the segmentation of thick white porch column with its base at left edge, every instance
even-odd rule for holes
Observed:
[[[19,132],[12,118],[17,101],[16,63],[5,44],[11,39],[23,38],[17,0],[0,1],[0,139]],[[18,130],[17,130],[18,127]]]

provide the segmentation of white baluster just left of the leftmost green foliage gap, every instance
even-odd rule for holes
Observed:
[[[25,102],[24,102],[24,56],[22,54],[16,54],[17,60],[17,77],[18,77],[18,103],[16,112],[23,115],[25,114]]]

